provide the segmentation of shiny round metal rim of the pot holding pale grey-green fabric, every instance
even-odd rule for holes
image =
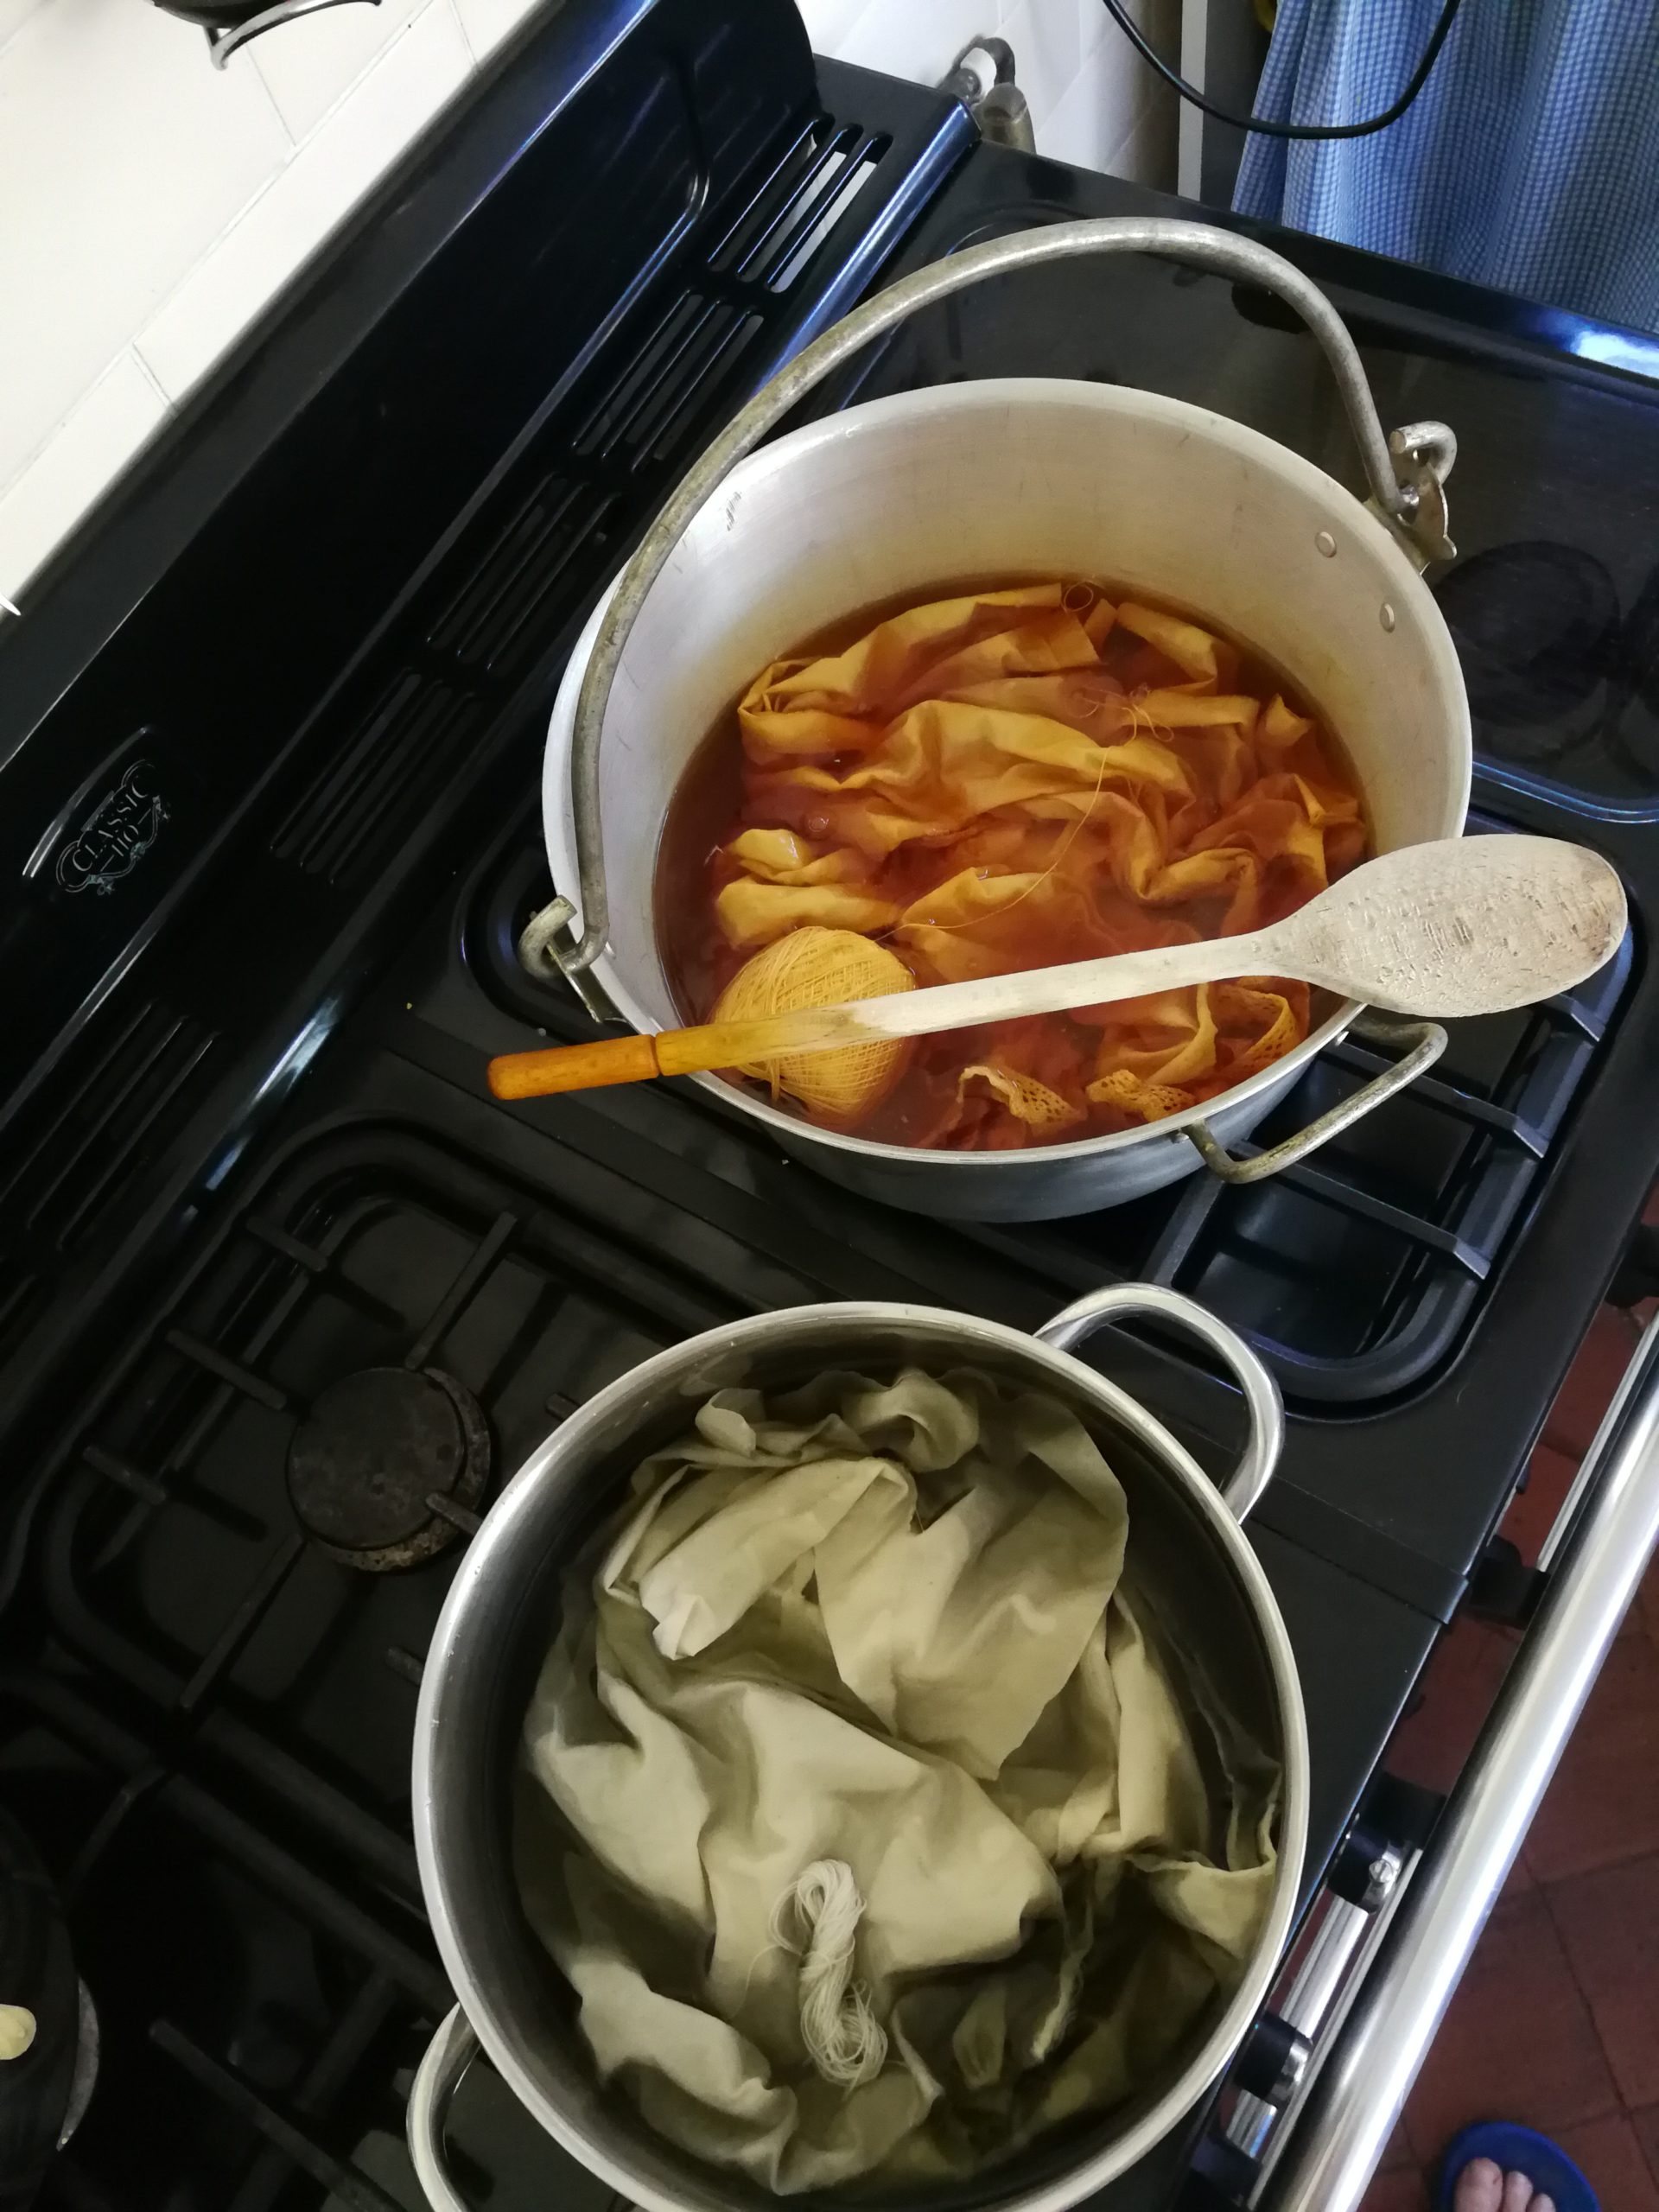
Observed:
[[[1201,1520],[1208,1524],[1210,1537],[1221,1546],[1261,1632],[1263,1655],[1285,1736],[1283,1792],[1279,1807],[1281,1838],[1272,1898],[1256,1951],[1241,1975],[1239,1986],[1221,2008],[1199,2051],[1194,2051],[1183,2066],[1181,2075],[1170,2081],[1164,2095],[1146,2112],[1141,2112],[1133,2126],[1128,2126],[1119,2137],[1113,2137],[1113,2141],[1104,2143],[1079,2166],[1068,2168],[1062,2177],[995,2199],[995,2212],[1068,2212],[1071,2205],[1117,2179],[1155,2143],[1159,2143],[1223,2075],[1237,2053],[1250,2022],[1261,2011],[1261,2004],[1274,1982],[1285,1942],[1290,1938],[1292,1918],[1296,1913],[1307,1847],[1310,1752],[1307,1712],[1290,1632],[1283,1615],[1279,1613],[1279,1599],[1267,1582],[1267,1573],[1256,1559],[1241,1522],[1234,1520],[1221,1502],[1221,1493],[1203,1473],[1199,1462],[1175,1436],[1170,1436],[1157,1416],[1148,1413],[1146,1407],[1119,1383],[1113,1383],[1110,1376],[1088,1367],[1071,1352],[1057,1352],[1037,1336],[1009,1327],[1006,1323],[982,1321],[975,1314],[960,1314],[951,1307],[847,1298],[752,1314],[745,1321],[726,1323],[717,1329],[703,1329],[697,1336],[688,1336],[679,1345],[670,1345],[664,1352],[653,1354],[648,1360],[639,1360],[628,1369],[628,1374],[606,1385],[606,1389],[571,1413],[568,1420],[564,1420],[542,1444],[535,1447],[535,1451],[531,1451],[484,1515],[482,1526],[467,1544],[456,1579],[445,1597],[442,1613],[438,1615],[438,1626],[431,1635],[427,1663],[420,1677],[411,1772],[414,1845],[420,1871],[420,1891],[427,1918],[431,1920],[434,1938],[438,1942],[438,1955],[467,2022],[500,2077],[531,2112],[531,2117],[560,2143],[560,2148],[588,2172],[606,2181],[613,2190],[644,2208],[644,2212],[684,2212],[684,2208],[677,2199],[659,2190],[641,2174],[635,2174],[628,2166],[615,2161],[608,2152],[595,2150],[595,2146],[582,2137],[580,2130],[566,2124],[564,2115],[544,2097],[540,2084],[522,2064],[518,2055],[520,2037],[515,2035],[513,2024],[498,2013],[491,1993],[480,1984],[471,1969],[467,1940],[458,1924],[460,1900],[456,1900],[449,1889],[447,1869],[436,1847],[434,1750],[438,1739],[438,1708],[447,1690],[456,1646],[462,1641],[469,1617],[480,1601],[478,1593],[489,1579],[491,1562],[513,1544],[533,1495],[555,1473],[560,1458],[571,1453],[573,1447],[580,1449],[591,1431],[604,1429],[604,1425],[622,1411],[628,1405],[628,1398],[639,1389],[641,1376],[668,1380],[675,1376],[675,1369],[690,1374],[701,1363],[721,1354],[741,1354],[757,1343],[765,1343],[768,1349],[776,1349],[779,1332],[810,1340],[818,1329],[830,1329],[832,1334],[854,1334],[856,1329],[872,1325],[931,1327],[962,1338],[964,1345],[975,1340],[995,1345],[1002,1352],[1031,1360],[1040,1369],[1048,1369],[1075,1389],[1082,1389],[1106,1413],[1119,1420],[1135,1436],[1135,1440],[1161,1462],[1164,1471],[1181,1484],[1188,1502],[1197,1506]],[[641,2121],[639,2126],[646,2124]],[[710,2168],[710,2172],[719,2174],[719,2168]]]

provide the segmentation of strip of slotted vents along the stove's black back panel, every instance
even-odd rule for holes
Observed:
[[[551,664],[588,595],[730,407],[779,354],[779,321],[889,139],[830,115],[765,166],[679,281],[613,332],[434,573],[418,633],[378,688],[341,699],[327,765],[270,841],[276,860],[354,887],[482,741],[502,688]]]

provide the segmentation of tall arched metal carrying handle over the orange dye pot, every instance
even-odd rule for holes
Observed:
[[[555,898],[544,909],[549,920],[549,945],[553,958],[566,975],[582,975],[604,951],[611,936],[611,900],[604,887],[604,825],[599,814],[599,734],[604,710],[611,701],[611,686],[622,661],[622,648],[635,626],[646,593],[668,566],[668,557],[686,533],[686,526],[710,498],[721,478],[750,453],[765,434],[796,407],[814,385],[843,365],[872,338],[931,307],[933,301],[949,299],[982,276],[1002,276],[1006,270],[1035,268],[1042,261],[1066,261],[1075,254],[1164,254],[1172,261],[1190,261],[1194,268],[1214,270],[1237,283],[1254,283],[1276,292],[1287,307],[1307,323],[1318,338],[1325,358],[1343,394],[1343,407],[1360,449],[1371,500],[1398,535],[1413,549],[1418,562],[1442,560],[1451,546],[1444,535],[1444,498],[1440,487],[1451,471],[1458,442],[1444,422],[1413,422],[1396,431],[1394,440],[1383,436],[1371,387],[1365,367],[1343,319],[1298,268],[1281,254],[1256,246],[1254,239],[1234,237],[1230,230],[1214,230],[1208,223],[1181,223],[1170,217],[1102,217],[1088,223],[1048,223],[1040,230],[1020,230],[1011,239],[991,239],[987,246],[969,246],[949,261],[936,261],[911,276],[900,276],[896,285],[878,292],[863,307],[854,307],[821,338],[814,338],[794,356],[770,385],[763,385],[721,436],[708,447],[701,460],[688,471],[679,489],[670,493],[666,507],[646,531],[639,551],[617,580],[611,604],[604,611],[593,653],[582,677],[582,692],[575,703],[575,730],[571,732],[571,799],[575,810],[575,854],[582,887],[582,938],[560,942],[560,929],[571,922],[575,907],[568,898]]]

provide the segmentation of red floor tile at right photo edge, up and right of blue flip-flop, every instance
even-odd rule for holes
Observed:
[[[1659,1854],[1544,1898],[1626,2108],[1659,2104]]]

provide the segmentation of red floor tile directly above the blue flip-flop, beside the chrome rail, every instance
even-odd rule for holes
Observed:
[[[1524,2119],[1557,2135],[1617,2108],[1544,1898],[1502,1900],[1407,2099],[1405,2130],[1418,2161],[1427,2168],[1475,2119]]]

